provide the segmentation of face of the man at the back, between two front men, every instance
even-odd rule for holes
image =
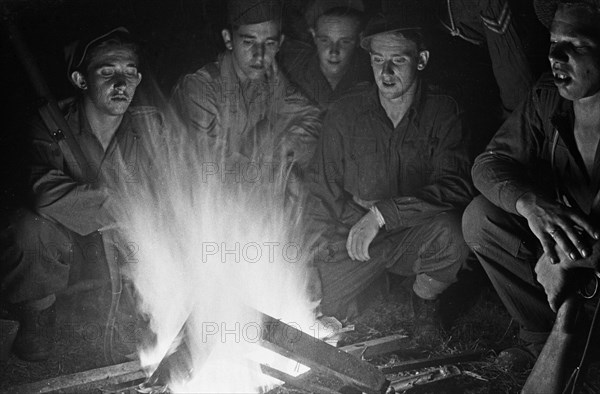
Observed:
[[[356,50],[359,22],[347,16],[322,16],[311,30],[321,71],[327,77],[341,77]]]

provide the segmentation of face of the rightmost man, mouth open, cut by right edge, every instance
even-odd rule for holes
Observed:
[[[600,16],[581,6],[564,5],[550,27],[554,83],[560,95],[579,100],[600,91]]]

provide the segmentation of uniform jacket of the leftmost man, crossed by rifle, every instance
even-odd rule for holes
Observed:
[[[92,133],[80,101],[66,109],[65,119],[87,162],[84,178],[75,180],[73,163],[65,161],[60,147],[41,120],[31,128],[31,187],[34,209],[81,235],[110,224],[108,180],[136,182],[147,176],[152,155],[144,142],[149,133],[162,133],[163,121],[152,107],[129,107],[106,152]]]

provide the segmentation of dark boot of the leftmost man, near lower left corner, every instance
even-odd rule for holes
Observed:
[[[26,361],[43,361],[54,349],[56,308],[54,303],[45,309],[17,308],[21,327],[13,344],[13,352]]]

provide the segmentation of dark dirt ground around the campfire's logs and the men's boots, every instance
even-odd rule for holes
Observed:
[[[515,375],[500,369],[494,359],[506,347],[518,344],[517,324],[502,306],[499,298],[484,277],[477,285],[449,295],[443,303],[444,315],[451,319],[448,329],[427,343],[415,341],[410,312],[410,280],[392,277],[381,282],[369,294],[361,297],[362,304],[354,331],[345,334],[339,344],[347,345],[393,334],[408,335],[407,348],[391,355],[370,360],[374,365],[390,365],[415,358],[456,355],[481,351],[478,362],[460,364],[462,375],[438,384],[424,386],[420,393],[518,393],[527,372]],[[385,290],[385,288],[389,290]],[[43,379],[86,371],[107,365],[103,351],[104,325],[110,295],[107,288],[62,296],[58,300],[57,349],[45,362],[30,363],[11,355],[0,361],[0,391]],[[127,319],[120,318],[122,324]],[[126,327],[126,326],[125,326]],[[125,358],[122,361],[127,361]],[[599,365],[590,368],[587,392],[600,392]],[[271,390],[271,394],[302,394],[305,391],[286,386]]]

